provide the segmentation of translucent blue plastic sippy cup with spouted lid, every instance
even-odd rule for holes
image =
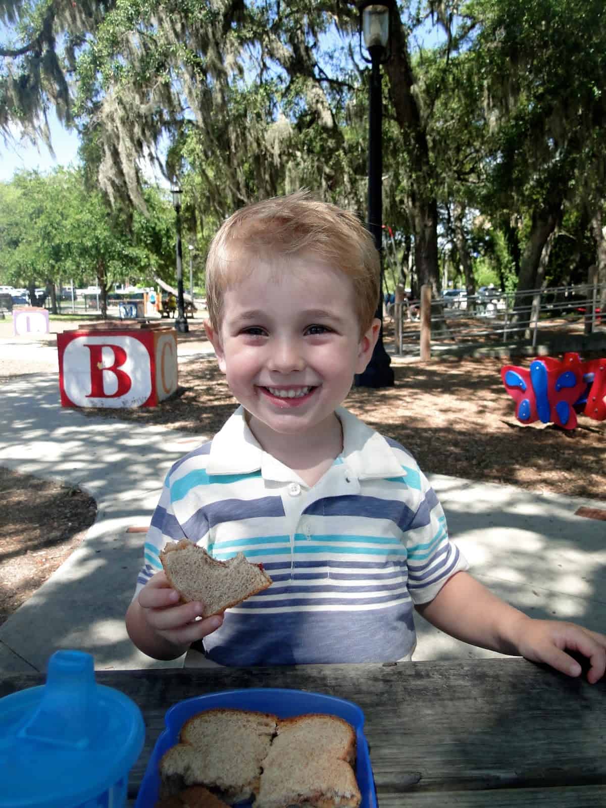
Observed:
[[[0,808],[121,808],[145,725],[95,682],[90,654],[57,651],[46,684],[0,699]]]

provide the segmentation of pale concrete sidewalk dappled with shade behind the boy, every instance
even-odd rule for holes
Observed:
[[[40,351],[56,357],[53,347]],[[196,349],[188,353],[192,359]],[[87,650],[99,669],[180,667],[182,660],[156,662],[141,654],[124,629],[144,538],[127,529],[149,524],[170,465],[208,436],[63,409],[56,372],[4,385],[0,424],[0,465],[81,486],[99,508],[82,545],[0,626],[0,671],[43,671],[57,648]],[[606,522],[575,516],[580,506],[606,510],[605,503],[430,478],[451,536],[482,583],[532,617],[606,630]],[[494,655],[420,617],[418,630],[415,659]]]

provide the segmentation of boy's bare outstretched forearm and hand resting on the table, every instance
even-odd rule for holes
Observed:
[[[592,684],[606,670],[606,637],[574,623],[534,620],[505,603],[466,572],[449,578],[433,600],[417,610],[436,628],[471,645],[524,656],[578,676],[581,666],[565,649],[590,660]]]

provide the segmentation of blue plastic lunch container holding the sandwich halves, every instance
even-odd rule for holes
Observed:
[[[279,718],[293,718],[305,713],[327,713],[343,718],[356,730],[356,780],[362,796],[360,808],[377,808],[377,793],[372,779],[368,743],[364,736],[364,713],[360,707],[352,701],[338,699],[335,696],[284,688],[225,690],[178,701],[166,713],[164,718],[166,730],[158,738],[149,758],[135,808],[151,808],[155,805],[160,787],[158,775],[160,758],[170,747],[175,746],[175,743],[179,743],[179,732],[187,719],[205,709],[216,707],[274,713]],[[250,802],[243,802],[240,805],[249,806]]]

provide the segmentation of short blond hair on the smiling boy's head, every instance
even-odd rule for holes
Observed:
[[[206,306],[221,327],[223,293],[254,270],[255,259],[311,253],[347,275],[354,285],[360,331],[377,311],[381,263],[372,236],[358,217],[309,191],[246,205],[217,230],[206,259]]]

